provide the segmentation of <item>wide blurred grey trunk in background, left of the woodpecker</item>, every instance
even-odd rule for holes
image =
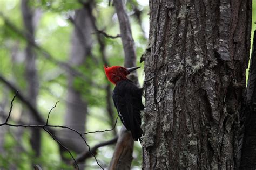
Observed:
[[[88,11],[85,8],[75,11],[72,20],[74,30],[72,34],[72,46],[69,63],[76,67],[86,67],[85,61],[91,53],[92,47],[92,24]],[[84,81],[73,74],[68,75],[68,94],[66,103],[65,126],[69,126],[78,132],[85,132],[87,114],[87,102],[83,93]],[[76,133],[63,130],[62,136],[66,147],[81,153],[87,150],[83,139]],[[67,138],[68,137],[68,138]]]

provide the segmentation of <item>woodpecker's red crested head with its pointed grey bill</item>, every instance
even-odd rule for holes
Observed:
[[[117,84],[117,82],[121,80],[127,80],[126,76],[138,68],[140,67],[124,68],[121,66],[107,67],[104,65],[107,79],[109,79],[109,81],[113,84]]]

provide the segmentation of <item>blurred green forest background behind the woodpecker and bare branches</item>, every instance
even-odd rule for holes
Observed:
[[[147,46],[149,32],[148,2],[126,1],[139,58]],[[109,1],[0,1],[0,101],[1,120],[5,121],[14,90],[19,90],[44,121],[66,125],[78,132],[112,129],[116,109],[112,103],[113,86],[106,80],[103,65],[124,65],[116,12]],[[139,81],[143,82],[143,69]],[[10,122],[43,124],[21,98],[16,98]],[[93,147],[113,139],[121,128],[84,136]],[[69,130],[55,129],[56,138],[74,157],[87,150],[80,136]],[[70,155],[42,129],[10,126],[0,128],[0,169],[72,169]],[[100,147],[97,160],[106,168],[114,145]],[[142,153],[135,143],[133,169],[140,169]],[[80,168],[99,168],[89,157]]]

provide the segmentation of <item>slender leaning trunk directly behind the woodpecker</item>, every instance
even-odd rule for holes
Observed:
[[[120,35],[125,54],[124,67],[136,67],[135,45],[132,38],[129,17],[125,11],[124,2],[122,0],[114,0],[113,3],[117,12],[121,33]],[[129,79],[131,79],[139,87],[137,72],[133,72],[133,74],[129,76]],[[133,159],[133,145],[134,140],[132,139],[131,133],[127,132],[125,127],[122,126],[109,169],[130,169]]]

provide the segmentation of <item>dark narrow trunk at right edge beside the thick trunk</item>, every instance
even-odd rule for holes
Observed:
[[[245,132],[242,134],[240,169],[256,169],[256,31],[254,31],[253,48],[247,86],[247,106],[245,110]]]

